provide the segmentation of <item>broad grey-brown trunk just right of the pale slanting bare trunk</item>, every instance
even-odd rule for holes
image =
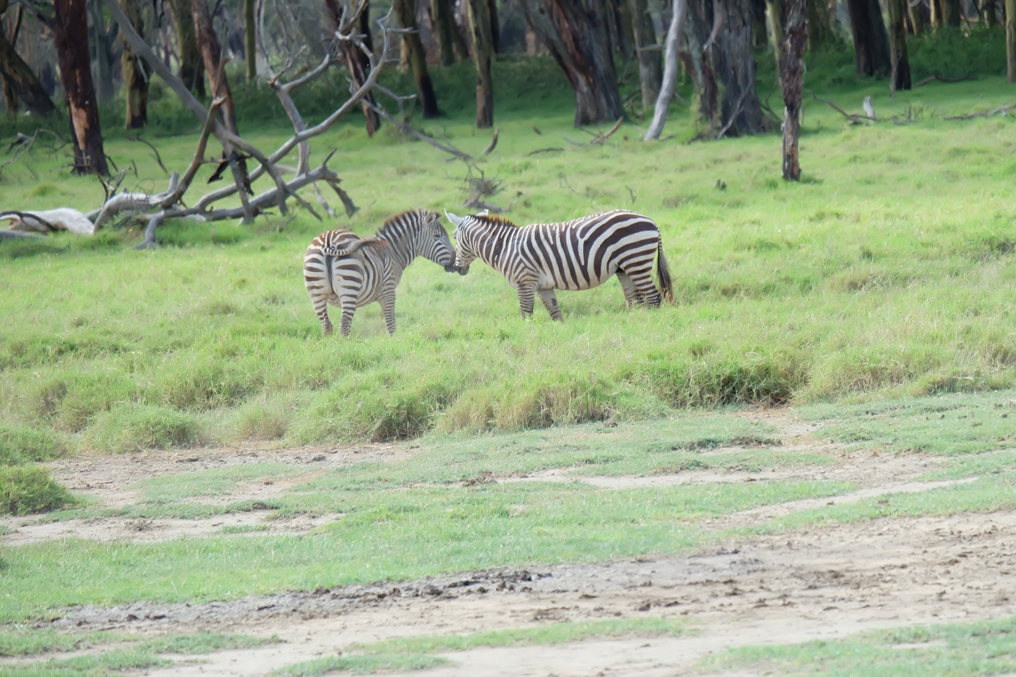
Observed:
[[[697,108],[709,136],[764,132],[767,125],[755,90],[750,0],[690,0],[685,37]]]

